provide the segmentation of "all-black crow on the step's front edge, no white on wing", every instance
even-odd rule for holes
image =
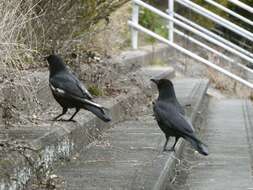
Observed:
[[[194,134],[192,125],[184,118],[182,107],[176,99],[173,84],[170,80],[151,79],[159,90],[158,99],[153,103],[154,115],[160,129],[165,133],[166,142],[163,150],[166,151],[166,146],[170,136],[176,138],[171,151],[175,151],[175,145],[180,137],[189,141],[193,148],[200,154],[208,155],[206,145],[204,145]]]

